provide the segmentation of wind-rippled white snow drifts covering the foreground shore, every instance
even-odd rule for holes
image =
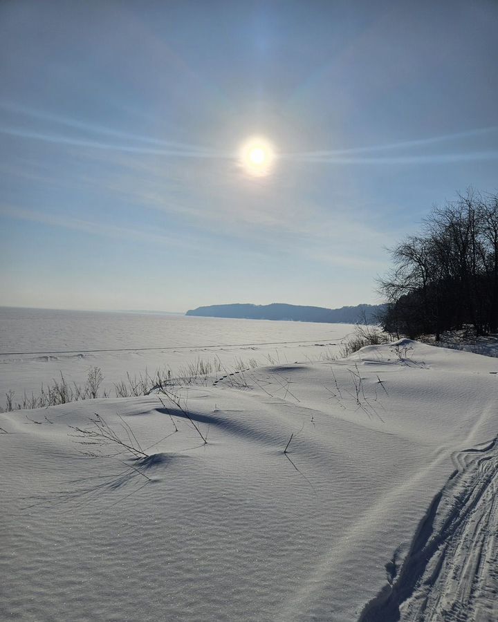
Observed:
[[[498,619],[497,373],[402,340],[190,387],[190,419],[158,395],[3,413],[0,619],[388,622],[364,607],[398,578],[401,619]],[[149,458],[86,455],[94,413]]]

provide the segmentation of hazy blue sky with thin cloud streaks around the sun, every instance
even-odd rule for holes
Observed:
[[[385,247],[498,189],[497,23],[495,0],[4,0],[1,303],[376,302]]]

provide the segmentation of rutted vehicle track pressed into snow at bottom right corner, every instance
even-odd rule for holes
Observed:
[[[398,577],[359,622],[498,619],[498,437],[462,452],[459,464],[432,500]]]

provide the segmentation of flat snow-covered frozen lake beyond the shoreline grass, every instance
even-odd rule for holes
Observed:
[[[159,313],[0,308],[0,392],[37,392],[61,373],[84,382],[98,366],[112,389],[127,373],[215,357],[232,368],[317,360],[337,353],[350,324],[186,317]],[[3,399],[0,401],[3,404]]]

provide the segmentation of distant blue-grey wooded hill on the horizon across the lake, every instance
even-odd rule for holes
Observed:
[[[356,305],[356,307],[326,309],[324,307],[306,307],[283,303],[271,305],[233,304],[198,307],[187,311],[185,315],[353,324],[361,321],[364,314],[367,321],[375,322],[376,314],[384,308],[385,305]]]

